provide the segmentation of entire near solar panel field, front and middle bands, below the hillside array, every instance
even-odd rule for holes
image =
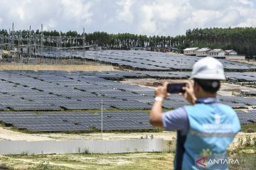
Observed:
[[[154,130],[147,113],[154,103],[154,89],[123,84],[122,80],[187,79],[190,74],[156,71],[1,71],[0,120],[6,125],[31,132],[90,132],[101,129],[101,119],[102,130]],[[240,81],[256,81],[254,72],[226,74]],[[256,98],[221,95],[218,98],[221,103],[236,109],[256,106]],[[175,94],[164,102],[166,110],[186,105],[188,103]],[[101,108],[104,110],[103,117],[99,112]],[[96,112],[88,112],[93,110]],[[238,114],[241,123],[256,122],[255,115],[254,111],[240,111]]]

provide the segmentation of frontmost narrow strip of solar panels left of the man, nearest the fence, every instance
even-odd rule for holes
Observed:
[[[102,115],[102,130],[154,130],[149,124],[148,113],[105,112]],[[101,130],[101,113],[0,112],[0,120],[31,132]]]

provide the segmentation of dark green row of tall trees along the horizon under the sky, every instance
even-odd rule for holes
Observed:
[[[18,30],[16,33],[29,34],[29,31]],[[32,30],[31,33],[41,34],[40,30]],[[8,35],[8,31],[0,30],[0,34]],[[66,33],[57,30],[44,30],[43,35],[82,36],[82,34],[72,30]],[[186,30],[185,35],[175,37],[130,33],[110,34],[96,31],[85,33],[85,41],[89,45],[98,44],[114,50],[129,50],[131,47],[178,47],[182,51],[186,47],[210,47],[223,50],[233,49],[238,54],[246,55],[246,57],[256,55],[256,28],[195,28]]]

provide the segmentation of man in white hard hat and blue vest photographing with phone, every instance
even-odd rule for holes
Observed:
[[[240,131],[235,111],[216,98],[220,80],[225,80],[223,65],[213,57],[204,57],[193,65],[191,79],[193,84],[186,81],[182,94],[191,106],[164,114],[161,106],[169,96],[167,84],[156,87],[150,123],[177,130],[174,169],[228,169],[227,162],[213,162],[227,160],[227,148]]]

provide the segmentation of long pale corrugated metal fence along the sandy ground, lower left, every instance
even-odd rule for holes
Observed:
[[[161,152],[163,149],[163,139],[0,141],[0,154],[73,154],[82,152],[107,154]]]

